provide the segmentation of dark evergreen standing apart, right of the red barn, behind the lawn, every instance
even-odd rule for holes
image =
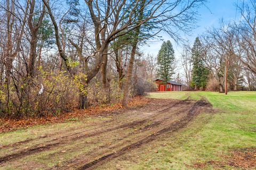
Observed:
[[[204,66],[203,48],[198,37],[196,37],[196,40],[194,42],[191,52],[192,52],[192,60],[193,60],[191,85],[195,86],[195,89],[198,89],[200,87],[205,88],[207,84],[207,76],[209,74],[209,71]]]

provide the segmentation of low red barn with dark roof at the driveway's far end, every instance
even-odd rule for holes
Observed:
[[[163,80],[156,79],[155,81],[156,91],[181,91],[182,84],[175,81],[168,81],[167,83],[163,83]]]

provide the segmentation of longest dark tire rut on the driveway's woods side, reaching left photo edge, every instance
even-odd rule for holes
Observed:
[[[21,150],[17,153],[14,153],[14,154],[10,154],[10,155],[6,155],[4,157],[0,157],[0,165],[5,163],[5,162],[9,162],[10,160],[18,159],[20,157],[24,157],[24,156],[27,156],[27,155],[35,154],[37,152],[42,152],[42,151],[45,151],[45,150],[52,149],[53,147],[57,147],[57,146],[65,144],[65,143],[68,143],[68,142],[70,142],[70,140],[78,140],[78,139],[81,139],[81,138],[94,137],[95,135],[99,135],[99,134],[102,134],[102,133],[106,133],[106,132],[110,132],[110,131],[114,131],[114,130],[118,130],[118,129],[123,129],[123,128],[132,128],[133,126],[137,126],[138,124],[146,123],[148,120],[150,120],[150,118],[158,116],[159,114],[162,114],[162,113],[166,112],[168,109],[172,108],[173,106],[176,106],[176,105],[179,105],[179,104],[186,104],[187,101],[188,101],[187,99],[178,101],[177,103],[174,103],[173,105],[162,109],[157,114],[150,115],[151,117],[148,116],[149,118],[146,118],[144,120],[133,121],[131,123],[121,124],[121,125],[115,126],[113,128],[99,130],[97,132],[93,132],[93,133],[89,133],[89,134],[78,135],[78,134],[81,134],[80,132],[78,132],[78,133],[73,134],[71,138],[70,138],[70,135],[67,135],[66,136],[67,138],[61,137],[59,139],[53,139],[51,141],[46,141],[46,142],[52,142],[52,141],[60,140],[59,142],[49,143],[49,144],[46,144],[46,145],[44,145],[44,143],[41,143],[41,144],[38,144],[39,145],[38,147],[31,147],[31,148],[28,148],[26,150]]]

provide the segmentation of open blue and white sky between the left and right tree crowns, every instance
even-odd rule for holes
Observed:
[[[198,9],[198,27],[194,29],[191,32],[191,36],[187,37],[186,39],[188,39],[188,41],[193,44],[195,38],[198,35],[201,35],[205,29],[210,27],[218,27],[221,18],[223,18],[224,21],[234,20],[236,16],[235,4],[242,1],[243,0],[209,0],[209,2],[206,3],[207,7],[202,6]],[[237,11],[236,19],[237,18],[239,19],[239,11]],[[179,58],[181,47],[177,46],[167,33],[162,32],[161,36],[165,41],[170,40],[172,42],[175,50],[175,57]],[[151,53],[156,56],[158,50],[161,48],[162,43],[163,41],[148,43],[148,46],[143,46],[141,49],[145,53]]]

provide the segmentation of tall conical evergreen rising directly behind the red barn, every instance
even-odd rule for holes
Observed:
[[[174,50],[171,41],[164,41],[157,55],[157,76],[164,83],[169,81],[174,74]]]

